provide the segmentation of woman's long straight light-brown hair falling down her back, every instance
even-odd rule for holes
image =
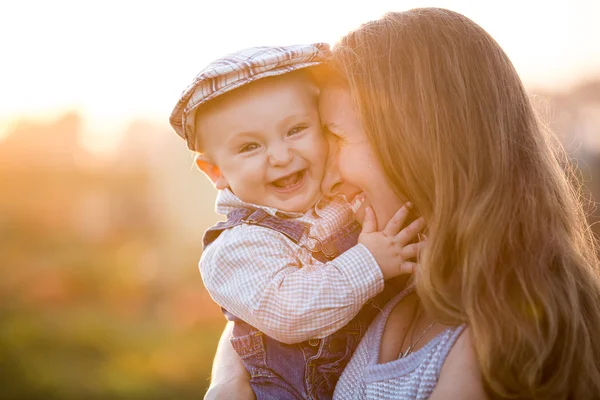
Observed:
[[[489,395],[600,399],[595,240],[500,46],[463,15],[415,9],[351,32],[332,64],[398,196],[428,221],[420,299],[468,323]]]

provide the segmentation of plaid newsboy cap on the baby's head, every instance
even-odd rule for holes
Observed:
[[[181,94],[169,122],[194,150],[194,115],[199,105],[223,93],[268,76],[282,75],[327,61],[327,43],[284,47],[251,47],[222,57],[204,68]]]

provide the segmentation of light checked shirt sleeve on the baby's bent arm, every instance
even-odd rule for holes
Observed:
[[[240,225],[205,249],[202,280],[217,304],[290,344],[339,330],[383,289],[381,269],[361,244],[306,266],[299,251],[278,232]]]

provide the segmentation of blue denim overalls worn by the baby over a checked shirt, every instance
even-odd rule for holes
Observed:
[[[240,224],[274,229],[298,244],[309,226],[294,219],[272,216],[264,210],[238,208],[204,234],[204,247],[226,229]],[[340,228],[325,240],[318,241],[312,255],[328,262],[357,243],[361,226],[357,221]],[[356,266],[360,268],[360,266]],[[250,384],[258,400],[331,399],[335,384],[350,361],[360,339],[377,312],[398,291],[387,287],[369,300],[358,315],[337,332],[323,338],[285,344],[223,309],[234,321],[231,344],[250,373]]]

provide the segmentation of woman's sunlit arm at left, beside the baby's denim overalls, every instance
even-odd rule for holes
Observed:
[[[210,387],[204,400],[254,400],[254,392],[250,387],[250,375],[246,372],[242,360],[229,342],[232,331],[233,322],[228,322],[217,346]]]

